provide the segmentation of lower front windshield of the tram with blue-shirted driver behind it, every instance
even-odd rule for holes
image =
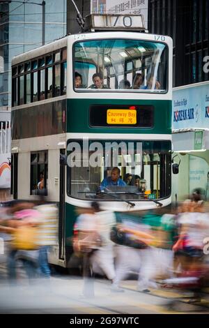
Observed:
[[[171,193],[171,142],[68,140],[68,195],[157,200]]]

